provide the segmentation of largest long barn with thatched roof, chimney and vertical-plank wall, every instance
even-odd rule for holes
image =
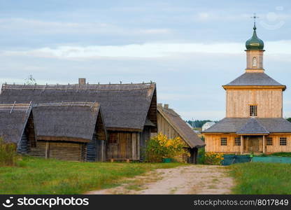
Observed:
[[[108,132],[106,160],[143,160],[143,148],[157,132],[155,83],[88,84],[84,78],[74,85],[3,84],[0,104],[98,102]]]

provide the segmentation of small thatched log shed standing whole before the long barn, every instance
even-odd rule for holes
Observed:
[[[75,161],[105,160],[106,130],[98,103],[35,104],[36,146],[29,155]]]

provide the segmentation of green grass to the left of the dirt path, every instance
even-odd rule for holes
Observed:
[[[80,194],[118,186],[120,179],[179,163],[66,162],[23,157],[0,167],[0,194]]]

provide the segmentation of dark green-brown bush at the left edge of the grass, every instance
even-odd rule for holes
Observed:
[[[15,144],[6,144],[0,138],[0,166],[14,166],[16,159]]]

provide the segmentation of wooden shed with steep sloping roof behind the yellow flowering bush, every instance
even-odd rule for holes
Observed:
[[[204,141],[201,141],[178,113],[169,109],[169,104],[164,104],[164,106],[158,104],[157,106],[157,132],[162,132],[171,139],[180,137],[185,142],[185,149],[190,152],[190,158],[185,161],[197,163],[198,148],[205,146]]]

